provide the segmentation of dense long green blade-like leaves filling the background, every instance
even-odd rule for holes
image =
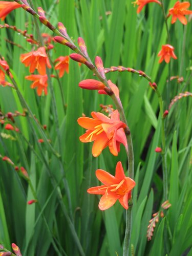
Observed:
[[[176,95],[192,91],[191,22],[183,26],[179,21],[172,25],[170,18],[167,20],[178,60],[159,64],[157,54],[167,43],[167,35],[162,10],[156,3],[148,4],[137,15],[130,0],[32,2],[35,10],[41,6],[46,11],[54,26],[62,22],[76,45],[81,36],[93,62],[98,55],[105,68],[124,66],[144,71],[158,84],[164,110]],[[175,2],[168,1],[166,10]],[[10,13],[5,21],[17,29],[26,29],[35,39],[38,30],[55,35],[39,20],[35,26],[33,17],[22,8]],[[99,185],[96,169],[114,174],[117,161],[122,162],[124,170],[127,168],[124,148],[121,145],[118,157],[105,148],[94,158],[92,145],[78,139],[84,129],[78,125],[77,118],[83,113],[91,117],[92,111],[100,111],[99,104],[113,104],[111,98],[80,89],[81,80],[94,77],[86,66],[79,67],[72,60],[69,74],[60,78],[61,87],[57,79],[50,78],[48,95],[38,97],[36,90],[30,88],[31,81],[25,79],[29,68],[19,61],[20,54],[30,52],[33,47],[16,31],[2,28],[0,33],[0,57],[7,60],[20,96],[27,103],[16,90],[0,86],[2,113],[26,111],[26,116],[14,118],[19,133],[7,131],[1,125],[0,133],[16,140],[0,134],[0,155],[9,157],[19,167],[24,166],[31,180],[30,186],[11,164],[0,158],[0,243],[9,250],[11,243],[15,243],[28,256],[121,255],[125,210],[117,202],[113,208],[101,212],[100,196],[88,195],[87,189]],[[66,46],[52,43],[52,63],[57,57],[72,53]],[[51,74],[56,75],[54,69]],[[183,82],[178,83],[177,79],[167,82],[170,76],[176,75],[182,76]],[[162,160],[161,154],[155,152],[156,146],[161,146],[158,97],[148,81],[136,74],[110,72],[106,78],[120,90],[134,146],[137,171],[130,252],[140,256],[192,255],[192,100],[190,97],[178,100],[165,119],[168,200],[172,206],[163,210],[165,217],[159,218],[152,241],[147,241],[148,222],[163,203]],[[41,138],[50,142],[39,143]],[[35,196],[38,202],[28,205]]]

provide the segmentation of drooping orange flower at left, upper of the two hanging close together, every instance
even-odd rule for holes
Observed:
[[[37,51],[21,54],[20,61],[22,61],[26,67],[30,66],[30,73],[33,73],[35,69],[37,69],[40,75],[45,75],[46,65],[49,69],[51,68],[45,47],[40,47]]]

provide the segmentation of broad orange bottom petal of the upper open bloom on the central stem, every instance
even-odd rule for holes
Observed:
[[[92,147],[92,154],[94,157],[98,157],[101,154],[102,150],[108,145],[108,141],[109,139],[104,132],[100,134],[100,136],[98,135]]]

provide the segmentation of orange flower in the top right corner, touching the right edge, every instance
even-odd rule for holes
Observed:
[[[186,10],[187,8],[189,8],[189,6],[189,2],[180,3],[179,1],[177,1],[174,7],[169,9],[168,16],[173,15],[172,24],[174,24],[177,19],[179,19],[183,25],[187,24],[187,19],[185,18],[185,15],[192,14],[192,11]]]

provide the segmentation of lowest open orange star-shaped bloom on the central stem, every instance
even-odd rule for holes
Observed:
[[[115,176],[105,172],[105,170],[96,170],[97,179],[104,185],[91,187],[88,193],[103,195],[99,202],[99,209],[106,210],[113,206],[117,200],[128,209],[128,201],[131,198],[131,190],[135,186],[135,181],[124,175],[121,162],[116,165]]]

